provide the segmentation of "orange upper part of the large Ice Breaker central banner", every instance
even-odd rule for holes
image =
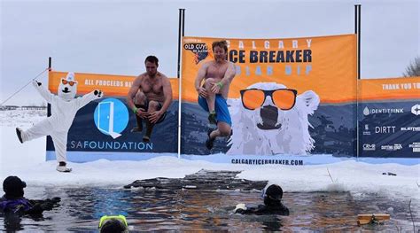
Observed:
[[[222,38],[183,37],[183,99],[197,101],[198,68],[214,59],[212,43]],[[331,35],[288,39],[226,39],[228,59],[236,65],[229,97],[256,82],[276,82],[298,95],[313,90],[322,103],[356,99],[356,36]]]

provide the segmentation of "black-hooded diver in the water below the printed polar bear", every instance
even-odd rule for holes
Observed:
[[[277,184],[271,184],[264,191],[264,205],[256,207],[237,204],[235,214],[279,214],[289,215],[289,209],[282,204],[283,190]]]

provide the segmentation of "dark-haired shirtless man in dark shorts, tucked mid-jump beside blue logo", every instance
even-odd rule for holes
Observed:
[[[128,107],[136,114],[137,127],[131,132],[141,132],[146,121],[145,143],[150,141],[153,126],[165,119],[172,103],[171,83],[165,74],[158,72],[159,60],[149,56],[144,60],[146,72],[138,75],[128,91]]]

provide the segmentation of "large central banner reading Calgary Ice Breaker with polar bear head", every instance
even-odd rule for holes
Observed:
[[[208,128],[214,126],[198,105],[195,79],[214,60],[212,43],[220,40],[183,38],[182,154],[355,155],[355,35],[227,39],[237,74],[226,100],[232,135],[217,138],[208,150]]]

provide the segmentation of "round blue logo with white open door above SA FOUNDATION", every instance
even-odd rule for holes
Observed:
[[[93,118],[99,131],[115,139],[128,125],[128,110],[121,100],[105,98],[97,105]]]

